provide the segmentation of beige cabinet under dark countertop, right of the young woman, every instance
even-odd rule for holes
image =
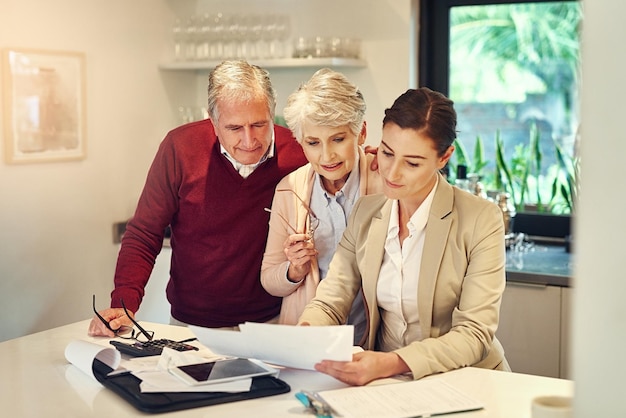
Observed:
[[[507,282],[497,337],[514,372],[565,377],[564,290],[569,289]]]

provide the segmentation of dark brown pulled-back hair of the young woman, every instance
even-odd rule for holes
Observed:
[[[427,87],[409,89],[385,110],[383,126],[395,123],[402,129],[415,129],[430,138],[442,156],[456,138],[454,103]]]

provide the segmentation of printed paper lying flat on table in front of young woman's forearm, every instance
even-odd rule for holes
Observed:
[[[429,417],[483,408],[480,401],[442,380],[349,387],[318,394],[344,418]]]

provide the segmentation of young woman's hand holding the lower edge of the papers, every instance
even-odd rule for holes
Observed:
[[[363,351],[352,356],[352,361],[323,360],[315,370],[353,386],[362,386],[372,380],[406,373],[409,367],[396,353]]]

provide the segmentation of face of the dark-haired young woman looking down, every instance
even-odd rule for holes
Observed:
[[[437,172],[452,155],[450,147],[437,155],[434,142],[415,129],[387,123],[378,148],[378,169],[383,191],[389,199],[421,202],[436,183]]]

